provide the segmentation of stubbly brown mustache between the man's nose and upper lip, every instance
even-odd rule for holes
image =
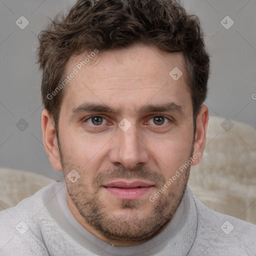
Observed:
[[[148,168],[148,167],[134,167],[132,169],[126,169],[123,167],[112,168],[109,170],[103,170],[96,174],[93,178],[92,186],[100,187],[104,182],[110,181],[116,178],[137,178],[147,181],[153,181],[157,187],[161,187],[164,184],[164,177]]]

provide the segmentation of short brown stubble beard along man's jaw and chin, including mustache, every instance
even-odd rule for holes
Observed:
[[[111,213],[111,205],[105,205],[103,201],[100,201],[98,187],[94,187],[94,190],[90,191],[85,180],[81,177],[75,183],[70,182],[66,174],[73,167],[64,162],[61,164],[64,166],[63,175],[67,192],[82,218],[105,237],[126,241],[139,241],[149,238],[170,221],[183,197],[190,169],[189,166],[175,180],[175,185],[174,183],[171,184],[154,202],[150,202],[147,199],[146,203],[152,204],[150,211],[143,212],[143,201],[140,199],[123,199],[120,200],[119,206],[122,213],[113,214]],[[76,169],[76,171],[83,173],[80,169]],[[101,177],[140,177],[148,179],[148,173],[145,168],[132,171],[116,168],[113,171],[101,172],[100,175]],[[157,190],[163,186],[164,180],[159,173],[150,171],[149,176],[149,180],[152,177],[157,179],[159,183]],[[96,182],[93,183],[95,184]]]

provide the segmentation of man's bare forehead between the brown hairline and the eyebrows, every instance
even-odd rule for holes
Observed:
[[[174,74],[177,70],[178,75],[182,74],[177,80],[171,76],[173,68]],[[159,97],[161,100],[170,96],[174,100],[184,93],[189,96],[182,54],[163,52],[153,46],[86,52],[68,60],[66,75],[73,70],[76,74],[65,87],[62,101],[69,108],[88,100],[106,104],[125,101],[134,107],[134,102],[143,104],[143,100],[153,104],[162,103],[156,102]]]

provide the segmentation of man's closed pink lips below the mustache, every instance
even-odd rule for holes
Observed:
[[[115,197],[134,200],[148,193],[154,187],[154,184],[142,180],[133,180],[132,182],[129,180],[116,180],[103,184],[102,187]]]

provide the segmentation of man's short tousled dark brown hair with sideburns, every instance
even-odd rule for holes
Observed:
[[[78,0],[67,15],[58,14],[38,38],[42,102],[56,130],[64,89],[54,93],[53,99],[47,95],[63,79],[69,57],[136,43],[183,53],[195,124],[207,94],[209,56],[197,16],[189,15],[178,0]]]

